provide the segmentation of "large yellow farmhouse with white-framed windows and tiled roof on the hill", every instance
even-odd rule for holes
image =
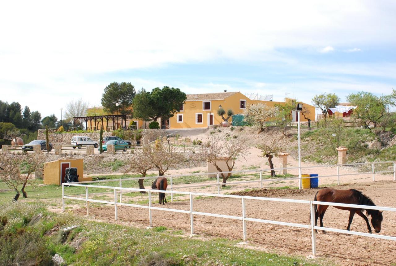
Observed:
[[[286,98],[286,101],[291,99]],[[265,103],[273,107],[275,104],[284,104],[281,101],[264,101],[264,100],[251,100],[240,92],[220,92],[220,93],[207,93],[207,94],[188,94],[187,100],[183,105],[180,112],[175,113],[173,117],[166,121],[167,128],[206,128],[210,125],[221,124],[223,119],[217,115],[217,110],[222,107],[226,112],[232,109],[234,114],[243,113],[249,104]],[[306,114],[307,118],[312,121],[315,120],[315,107],[304,103],[304,107],[309,110]],[[227,114],[225,115],[225,117]],[[292,121],[296,121],[297,115],[295,112],[291,115]],[[232,118],[228,119],[231,122]],[[307,121],[301,116],[301,121]],[[164,124],[164,121],[162,122]]]

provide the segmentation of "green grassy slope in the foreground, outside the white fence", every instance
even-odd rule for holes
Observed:
[[[154,261],[158,265],[314,265],[305,258],[236,247],[236,241],[223,238],[202,241],[181,237],[174,234],[181,234],[180,230],[167,230],[163,226],[142,230],[91,222],[24,203],[0,207],[0,217],[8,220],[4,230],[0,231],[1,265],[49,265],[55,253],[68,265],[75,266],[154,265]],[[28,226],[32,216],[39,212],[44,217],[34,226]],[[80,227],[69,234],[56,230],[53,234],[47,233],[53,228],[70,225]]]

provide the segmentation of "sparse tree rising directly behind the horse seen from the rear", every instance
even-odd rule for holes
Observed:
[[[163,176],[170,167],[179,166],[186,159],[183,153],[175,151],[173,146],[166,147],[159,139],[155,141],[154,145],[148,145],[146,148],[159,176]]]

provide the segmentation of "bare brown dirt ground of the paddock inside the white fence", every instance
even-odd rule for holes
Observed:
[[[341,185],[335,188],[354,188],[362,191],[373,199],[377,206],[396,207],[396,183],[379,181]],[[248,191],[246,194],[265,197],[282,197],[289,199],[312,200],[317,189],[291,191],[289,189],[268,189]],[[293,193],[291,193],[293,192]],[[167,196],[168,199],[170,196]],[[158,198],[153,195],[154,206]],[[169,200],[170,201],[170,200]],[[189,210],[189,201],[168,202],[166,208]],[[211,212],[227,215],[242,215],[240,199],[205,198],[194,199],[194,211]],[[85,209],[74,212],[85,215]],[[309,206],[298,203],[280,203],[273,201],[246,200],[246,215],[249,218],[261,218],[282,222],[309,224]],[[329,207],[324,216],[324,226],[345,229],[348,222],[348,211]],[[396,213],[384,212],[381,234],[396,236]],[[132,207],[118,207],[118,221],[114,221],[114,207],[104,206],[90,209],[90,217],[94,220],[126,224],[145,228],[148,226],[148,211]],[[154,226],[166,226],[190,232],[190,216],[177,212],[152,211]],[[351,230],[367,232],[364,220],[355,216]],[[226,218],[194,215],[194,233],[201,237],[226,237],[242,239],[242,222]],[[257,249],[276,253],[308,256],[311,255],[310,230],[278,226],[258,222],[247,222],[248,245]],[[324,264],[334,262],[342,265],[394,265],[396,262],[396,242],[373,239],[341,233],[327,232],[316,234],[317,257]]]

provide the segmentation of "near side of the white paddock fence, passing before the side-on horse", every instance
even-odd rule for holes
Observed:
[[[81,182],[80,182],[81,183]],[[138,189],[138,188],[123,188],[121,185],[119,187],[111,187],[111,186],[95,186],[95,185],[87,185],[87,184],[76,184],[76,183],[67,183],[69,186],[78,186],[78,187],[85,187],[85,197],[80,198],[76,197],[76,195],[65,195],[65,184],[62,184],[62,209],[65,211],[65,199],[73,199],[79,201],[86,202],[86,209],[87,215],[89,215],[89,202],[94,203],[104,203],[114,205],[114,216],[115,220],[118,220],[118,206],[128,206],[128,207],[135,207],[135,208],[143,208],[148,209],[148,216],[149,216],[149,226],[152,227],[152,210],[158,211],[169,211],[169,212],[180,212],[190,214],[190,232],[194,234],[194,215],[201,215],[201,216],[212,216],[217,218],[226,218],[226,219],[234,219],[234,220],[242,220],[242,239],[244,242],[247,240],[247,226],[246,222],[261,222],[267,224],[276,224],[281,226],[293,226],[299,227],[304,229],[311,230],[311,245],[312,245],[312,254],[316,255],[316,234],[315,230],[325,230],[330,232],[338,232],[338,233],[345,233],[350,235],[360,235],[364,237],[373,237],[373,238],[380,238],[380,239],[387,239],[396,241],[396,237],[388,236],[388,235],[376,235],[376,234],[369,234],[369,233],[362,233],[356,231],[347,231],[338,228],[325,228],[315,225],[315,214],[314,214],[314,206],[315,205],[328,205],[328,206],[339,206],[339,207],[352,207],[356,209],[375,209],[380,211],[394,211],[396,212],[396,208],[391,207],[379,207],[379,206],[367,206],[367,205],[355,205],[355,204],[342,204],[342,203],[328,203],[322,201],[307,201],[307,200],[297,200],[297,199],[278,199],[278,198],[267,198],[267,197],[251,197],[251,196],[240,196],[240,195],[221,195],[221,194],[211,194],[211,193],[198,193],[198,192],[186,192],[186,191],[162,191],[157,189]],[[114,201],[104,201],[104,200],[96,200],[96,199],[89,199],[88,188],[104,188],[104,189],[111,189],[114,192]],[[148,205],[137,205],[137,204],[129,204],[129,203],[122,203],[122,191],[145,191],[148,192]],[[118,195],[117,192],[119,191],[119,202],[118,202]],[[112,192],[109,192],[112,193]],[[190,201],[190,210],[180,210],[180,209],[168,209],[164,207],[152,207],[151,203],[151,195],[152,193],[170,193],[171,197],[173,198],[173,194],[184,194],[189,195]],[[83,194],[81,194],[83,195]],[[234,199],[241,199],[241,207],[242,207],[242,216],[236,215],[225,215],[225,214],[215,214],[209,212],[197,212],[194,211],[193,208],[193,196],[209,196],[209,197],[226,197],[226,198],[234,198]],[[256,201],[277,201],[277,202],[285,202],[285,203],[302,203],[309,205],[310,208],[310,224],[298,224],[298,223],[290,223],[290,222],[281,222],[281,221],[274,221],[274,220],[265,220],[253,217],[246,216],[246,203],[245,200],[256,200]]]

